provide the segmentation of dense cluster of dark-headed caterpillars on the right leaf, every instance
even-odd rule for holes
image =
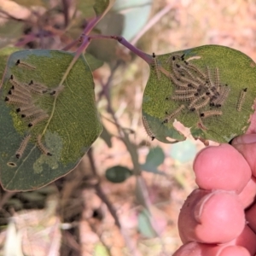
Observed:
[[[171,72],[167,72],[157,63],[154,54],[153,61],[157,78],[160,79],[160,73],[164,73],[175,85],[174,94],[167,96],[166,100],[181,102],[181,105],[172,113],[166,113],[166,119],[162,123],[173,120],[185,109],[198,113],[200,119],[223,114],[221,107],[227,101],[230,86],[220,83],[218,67],[212,74],[209,67],[201,70],[189,61],[185,61],[184,55],[173,55],[167,60],[171,67]],[[237,101],[237,111],[241,111],[246,95],[247,88],[242,89]]]

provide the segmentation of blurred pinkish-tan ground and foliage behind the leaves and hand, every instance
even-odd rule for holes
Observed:
[[[0,47],[63,49],[95,15],[94,3],[0,0]],[[92,33],[122,35],[149,54],[222,44],[256,61],[255,17],[253,0],[118,0]],[[187,141],[151,142],[141,121],[148,65],[111,40],[95,40],[87,52],[100,67],[93,74],[102,136],[55,183],[1,190],[1,255],[172,255],[181,245],[177,216],[195,189],[192,160],[204,146],[179,124]]]

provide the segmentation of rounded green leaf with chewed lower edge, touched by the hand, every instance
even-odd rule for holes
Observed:
[[[205,45],[153,56],[143,95],[143,125],[163,143],[195,139],[228,143],[247,131],[256,97],[256,64],[236,49]],[[174,140],[174,141],[173,141]]]

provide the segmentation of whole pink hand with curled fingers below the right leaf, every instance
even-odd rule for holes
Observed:
[[[232,145],[204,148],[196,156],[199,189],[181,209],[183,246],[173,256],[255,255],[256,134],[236,137]]]

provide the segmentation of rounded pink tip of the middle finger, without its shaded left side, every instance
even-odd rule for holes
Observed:
[[[245,226],[245,215],[238,196],[215,191],[195,206],[195,240],[224,243],[239,236]]]

